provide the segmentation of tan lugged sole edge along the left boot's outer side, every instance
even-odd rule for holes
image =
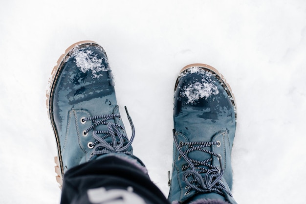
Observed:
[[[55,173],[57,174],[56,181],[60,184],[59,187],[60,189],[62,189],[63,186],[63,175],[64,175],[64,167],[63,167],[63,161],[62,161],[62,156],[61,156],[61,147],[60,147],[60,140],[59,140],[59,136],[57,134],[57,130],[55,127],[55,123],[54,123],[54,119],[53,119],[53,115],[52,115],[52,103],[53,101],[51,100],[53,93],[54,93],[54,88],[56,85],[56,82],[58,80],[58,77],[62,71],[62,64],[63,61],[65,59],[65,57],[67,56],[67,54],[77,45],[84,45],[84,44],[96,44],[98,45],[96,42],[94,41],[80,41],[78,43],[75,43],[71,46],[69,46],[65,52],[60,56],[60,58],[57,60],[56,62],[56,66],[54,66],[54,68],[52,69],[51,72],[51,76],[49,78],[48,81],[48,89],[46,91],[46,107],[47,107],[47,112],[48,112],[48,117],[50,119],[51,122],[51,126],[55,135],[55,139],[56,139],[56,143],[57,143],[57,151],[58,151],[58,156],[54,157],[54,162],[56,164],[55,166]]]

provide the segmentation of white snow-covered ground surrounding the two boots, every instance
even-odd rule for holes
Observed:
[[[165,195],[175,80],[204,63],[236,96],[237,202],[306,202],[305,0],[1,0],[0,203],[59,203],[45,89],[82,40],[105,48],[134,154]]]

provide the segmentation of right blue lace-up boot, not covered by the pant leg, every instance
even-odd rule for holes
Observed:
[[[235,99],[225,79],[208,65],[183,68],[175,84],[169,201],[236,204],[231,193],[235,130]]]

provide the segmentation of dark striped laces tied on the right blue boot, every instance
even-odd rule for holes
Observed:
[[[174,131],[175,135],[175,131]],[[185,195],[189,194],[192,189],[199,193],[210,193],[217,192],[224,195],[224,192],[229,196],[233,197],[231,192],[226,189],[225,185],[222,183],[221,178],[223,176],[224,170],[222,168],[221,156],[204,149],[212,145],[220,145],[218,142],[180,142],[178,143],[176,137],[174,136],[175,146],[179,151],[179,159],[183,157],[187,164],[182,166],[184,171],[183,180],[186,182],[187,189]],[[182,147],[188,146],[187,150],[183,151]],[[201,151],[212,155],[212,157],[217,157],[220,162],[220,169],[217,166],[211,164],[213,161],[212,157],[204,161],[199,161],[195,159],[188,158],[188,153],[193,151]],[[206,166],[208,168],[204,168]],[[202,176],[204,174],[204,176]],[[189,179],[190,178],[190,179]]]

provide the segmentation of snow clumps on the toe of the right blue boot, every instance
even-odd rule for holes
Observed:
[[[203,75],[203,78],[200,82],[195,81],[182,88],[181,96],[188,99],[187,103],[194,103],[200,98],[207,99],[212,94],[217,95],[219,93],[218,86],[215,81],[211,79],[211,76],[213,76],[211,72],[199,67],[193,67],[182,72],[179,77],[186,76],[188,73],[198,73]]]

